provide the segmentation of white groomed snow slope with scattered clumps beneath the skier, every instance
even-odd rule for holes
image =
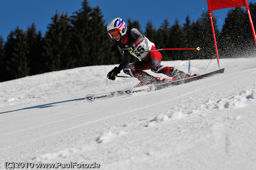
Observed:
[[[107,65],[2,82],[0,169],[6,161],[71,161],[102,170],[255,170],[256,58],[220,63],[223,75],[92,103],[84,96],[138,81],[116,78],[106,86],[117,66]],[[162,64],[187,72],[189,61]],[[216,69],[216,60],[191,61],[193,73]]]

